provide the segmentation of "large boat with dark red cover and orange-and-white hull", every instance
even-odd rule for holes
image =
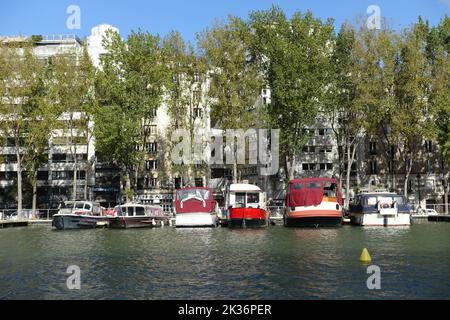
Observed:
[[[342,224],[339,183],[330,178],[299,178],[289,182],[285,226],[336,227]]]

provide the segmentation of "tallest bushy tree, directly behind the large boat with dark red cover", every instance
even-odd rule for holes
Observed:
[[[252,52],[271,89],[271,126],[281,129],[280,150],[288,179],[297,155],[309,140],[306,129],[324,107],[331,80],[332,20],[295,12],[288,19],[277,7],[250,14]]]

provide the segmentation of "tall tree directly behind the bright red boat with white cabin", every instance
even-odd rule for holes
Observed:
[[[230,16],[228,21],[216,23],[197,36],[201,57],[209,70],[211,121],[223,131],[245,132],[255,124],[255,113],[250,110],[261,93],[262,77],[251,56],[249,35],[244,21]],[[237,182],[237,150],[229,152],[234,155],[233,180]]]

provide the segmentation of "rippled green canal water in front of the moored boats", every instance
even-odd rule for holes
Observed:
[[[367,288],[364,247],[381,270]],[[81,270],[69,290],[67,268]],[[0,230],[0,299],[449,299],[450,223]]]

